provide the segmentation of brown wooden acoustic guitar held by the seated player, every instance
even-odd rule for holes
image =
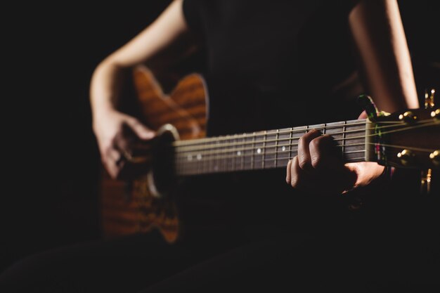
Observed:
[[[440,168],[440,110],[434,108],[434,90],[427,93],[425,109],[379,116],[374,105],[366,103],[368,119],[205,137],[207,91],[199,74],[181,79],[170,95],[146,67],[136,68],[133,77],[136,108],[157,138],[126,155],[136,179],[104,176],[101,200],[107,237],[158,228],[167,242],[176,241],[182,223],[172,196],[174,179],[285,168],[297,154],[299,138],[310,129],[330,134],[346,162],[423,170],[426,191],[432,169]]]

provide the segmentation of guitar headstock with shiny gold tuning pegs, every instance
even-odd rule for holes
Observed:
[[[425,109],[411,109],[377,117],[369,130],[370,157],[380,164],[421,170],[420,191],[429,193],[432,170],[440,169],[440,108],[435,90],[425,93]]]

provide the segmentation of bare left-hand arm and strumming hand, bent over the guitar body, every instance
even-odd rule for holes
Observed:
[[[122,153],[129,152],[124,126],[132,129],[138,138],[154,136],[154,132],[136,118],[115,108],[124,74],[129,71],[127,69],[148,62],[178,40],[185,39],[186,32],[188,27],[183,17],[182,0],[175,0],[152,25],[105,58],[93,72],[90,89],[93,131],[101,160],[112,177],[119,176],[124,164]]]

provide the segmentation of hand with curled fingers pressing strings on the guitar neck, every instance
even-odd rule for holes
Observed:
[[[363,112],[359,119],[365,117]],[[383,171],[374,162],[344,164],[333,138],[313,129],[299,139],[298,155],[287,164],[286,181],[313,194],[342,194],[372,183]]]

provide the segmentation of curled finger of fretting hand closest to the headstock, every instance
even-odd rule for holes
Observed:
[[[309,152],[314,169],[340,170],[344,167],[336,143],[329,135],[314,138],[309,144]]]

